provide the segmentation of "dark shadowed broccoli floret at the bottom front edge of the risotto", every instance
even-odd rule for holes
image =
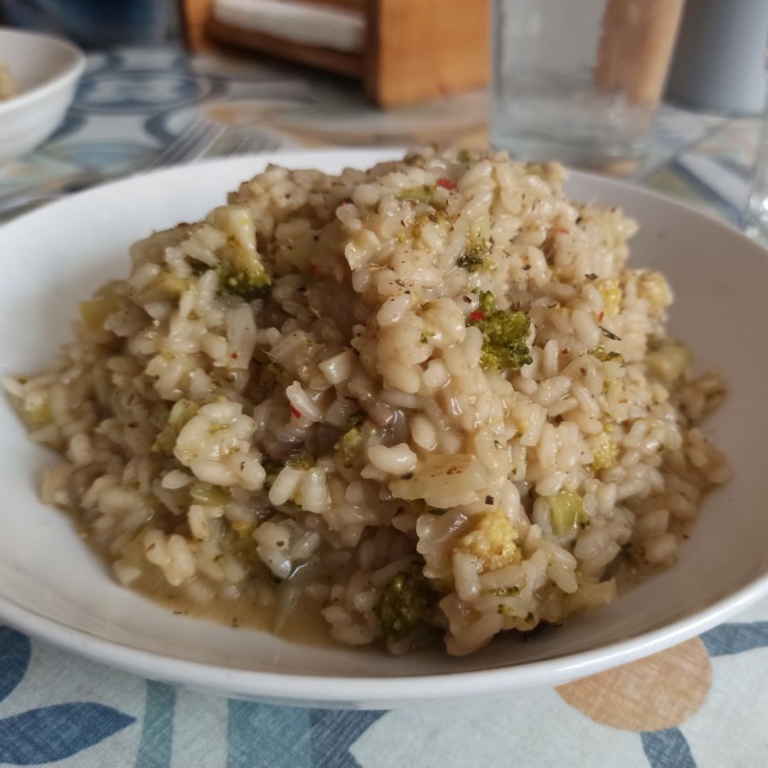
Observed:
[[[419,563],[397,574],[382,591],[375,608],[384,641],[395,643],[427,623],[436,601],[437,594]]]

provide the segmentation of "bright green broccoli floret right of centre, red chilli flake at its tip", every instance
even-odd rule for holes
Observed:
[[[523,312],[499,310],[490,291],[480,294],[480,309],[472,313],[472,325],[482,333],[480,365],[488,370],[518,370],[533,362],[525,343],[531,320]]]

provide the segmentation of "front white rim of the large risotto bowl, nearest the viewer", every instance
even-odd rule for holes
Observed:
[[[703,611],[656,630],[578,654],[466,672],[390,677],[243,670],[164,656],[68,627],[3,598],[0,598],[0,618],[41,641],[152,680],[297,707],[311,702],[321,707],[386,709],[402,703],[429,702],[444,697],[478,697],[552,687],[588,677],[697,637],[766,595],[768,574],[763,574]],[[350,653],[353,652],[351,649]]]

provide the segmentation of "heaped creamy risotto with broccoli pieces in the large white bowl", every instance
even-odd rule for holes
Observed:
[[[557,164],[270,166],[131,247],[74,340],[5,381],[114,578],[233,624],[468,654],[672,564],[728,468],[723,396]],[[190,609],[190,606],[192,608]]]

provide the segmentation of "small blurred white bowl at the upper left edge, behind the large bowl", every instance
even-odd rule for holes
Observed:
[[[58,127],[74,98],[85,56],[71,43],[0,28],[0,61],[18,94],[0,101],[0,164],[42,144]]]

